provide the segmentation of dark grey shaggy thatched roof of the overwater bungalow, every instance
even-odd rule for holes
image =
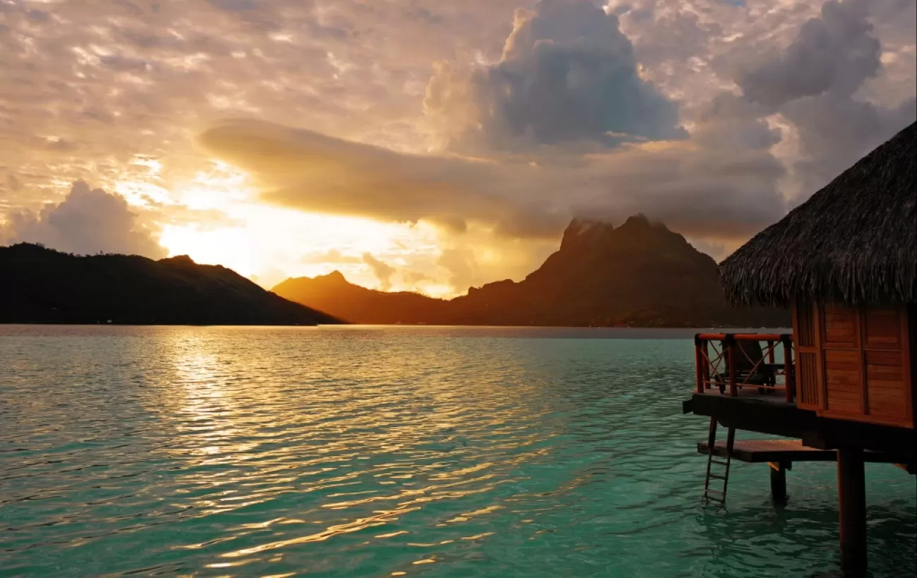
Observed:
[[[720,265],[733,305],[917,302],[917,123]]]

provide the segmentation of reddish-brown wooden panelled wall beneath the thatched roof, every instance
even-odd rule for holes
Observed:
[[[799,406],[826,418],[912,428],[913,309],[794,305]]]

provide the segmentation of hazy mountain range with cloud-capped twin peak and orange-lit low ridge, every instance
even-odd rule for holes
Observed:
[[[470,288],[456,299],[384,293],[337,271],[273,289],[348,322],[543,326],[789,326],[787,311],[730,308],[716,262],[663,224],[635,215],[619,227],[574,220],[560,248],[524,280]]]

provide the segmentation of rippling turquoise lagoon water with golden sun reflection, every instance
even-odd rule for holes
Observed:
[[[833,464],[703,505],[690,335],[0,326],[0,575],[833,571]],[[914,477],[867,477],[914,575]]]

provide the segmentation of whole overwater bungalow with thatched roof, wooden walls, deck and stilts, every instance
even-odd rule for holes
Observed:
[[[917,465],[915,163],[912,124],[721,264],[731,304],[789,308],[792,333],[698,334],[683,405],[710,418],[712,499],[725,500],[733,459],[770,463],[777,500],[792,462],[836,460],[845,573],[867,563],[864,462]],[[735,442],[736,430],[793,440]]]

